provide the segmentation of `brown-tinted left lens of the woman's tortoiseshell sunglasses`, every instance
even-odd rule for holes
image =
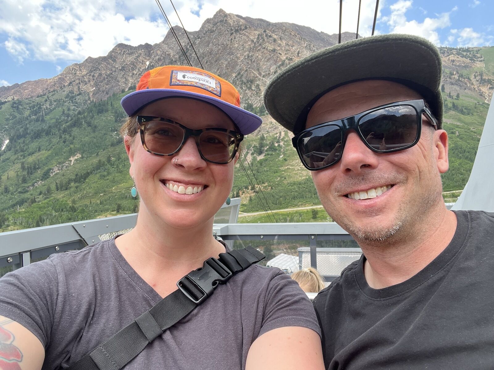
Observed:
[[[159,154],[171,154],[180,147],[184,130],[177,125],[162,121],[150,121],[144,126],[146,147]]]

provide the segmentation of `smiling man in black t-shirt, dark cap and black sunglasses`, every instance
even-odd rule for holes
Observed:
[[[444,204],[441,71],[427,40],[382,35],[310,55],[266,88],[363,251],[314,300],[328,369],[492,369],[494,214]]]

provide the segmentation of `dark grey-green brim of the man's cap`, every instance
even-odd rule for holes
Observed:
[[[391,79],[421,93],[442,122],[441,72],[439,51],[424,38],[359,38],[309,55],[277,74],[266,87],[264,105],[282,126],[300,131],[311,103],[322,93],[352,81]]]

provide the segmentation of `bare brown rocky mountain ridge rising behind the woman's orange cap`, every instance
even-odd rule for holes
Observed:
[[[184,31],[174,27],[189,59],[199,66]],[[206,70],[230,80],[242,92],[244,101],[261,104],[262,89],[269,78],[291,62],[337,42],[309,27],[271,23],[219,10],[199,31],[189,32]],[[342,34],[342,40],[355,35]],[[151,45],[116,45],[106,56],[89,57],[68,66],[52,78],[0,87],[0,100],[28,99],[55,90],[85,92],[92,100],[106,99],[114,92],[135,85],[145,71],[166,64],[186,65],[168,32],[163,41]]]

